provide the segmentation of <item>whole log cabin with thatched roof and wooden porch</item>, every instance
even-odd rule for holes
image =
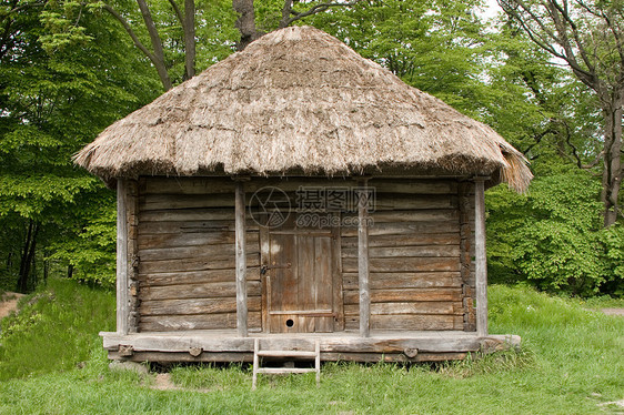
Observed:
[[[118,192],[111,358],[417,362],[520,341],[487,333],[484,190],[523,191],[526,160],[314,28],[262,37],[76,161]]]

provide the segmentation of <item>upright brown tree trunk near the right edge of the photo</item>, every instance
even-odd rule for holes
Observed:
[[[620,214],[617,198],[622,184],[622,95],[616,97],[610,104],[604,105],[604,162],[602,175],[601,199],[604,203],[604,226],[615,223]]]

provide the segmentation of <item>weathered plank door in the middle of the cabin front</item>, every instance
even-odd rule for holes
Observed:
[[[336,230],[281,227],[266,233],[265,327],[271,333],[341,330],[342,284]]]

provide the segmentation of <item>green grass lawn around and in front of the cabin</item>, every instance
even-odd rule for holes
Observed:
[[[178,391],[111,372],[97,332],[114,324],[113,295],[70,281],[36,295],[2,322],[1,414],[624,414],[624,317],[586,310],[600,301],[491,286],[490,331],[521,335],[517,352],[435,367],[325,364],[320,388],[291,375],[251,392],[236,365],[175,367]]]

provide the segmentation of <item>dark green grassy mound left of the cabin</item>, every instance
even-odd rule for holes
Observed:
[[[114,294],[71,280],[20,301],[20,311],[1,322],[0,382],[68,371],[101,347],[100,331],[114,330]]]

